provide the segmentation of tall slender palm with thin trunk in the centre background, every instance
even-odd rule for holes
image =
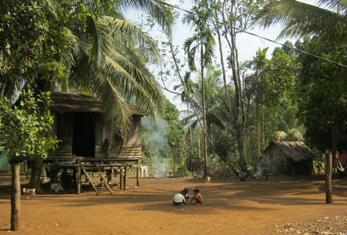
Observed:
[[[202,18],[198,16],[208,16],[208,11],[200,10],[197,7],[194,7],[193,12],[196,15],[185,15],[183,22],[190,24],[192,23],[195,26],[196,33],[189,37],[185,43],[185,53],[188,59],[188,66],[191,71],[198,71],[199,76],[201,77],[201,87],[203,88],[203,135],[204,135],[204,162],[205,162],[205,176],[208,176],[207,169],[207,128],[206,128],[206,107],[205,107],[205,77],[204,71],[208,64],[212,63],[212,57],[214,57],[214,45],[216,44],[214,40],[214,36],[212,34],[212,30],[208,27],[208,23],[206,21],[207,18]],[[198,16],[197,16],[198,15]],[[196,66],[196,56],[200,56],[200,68],[197,69]]]

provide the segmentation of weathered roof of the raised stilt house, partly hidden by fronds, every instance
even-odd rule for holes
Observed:
[[[51,100],[53,101],[53,110],[59,113],[76,112],[76,113],[102,113],[101,102],[95,100],[90,95],[77,93],[52,92]],[[133,115],[146,115],[146,111],[137,109],[136,106],[129,105]]]

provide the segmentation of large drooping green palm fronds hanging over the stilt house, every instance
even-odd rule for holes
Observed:
[[[146,57],[159,59],[155,42],[143,30],[121,15],[126,10],[142,10],[153,15],[166,32],[171,32],[169,10],[154,0],[118,1],[119,7],[108,15],[85,15],[85,28],[78,22],[67,26],[71,45],[61,60],[71,68],[69,85],[101,100],[104,115],[121,126],[123,133],[131,124],[128,104],[135,104],[154,115],[163,105],[158,82],[146,68]],[[79,30],[82,29],[82,30]],[[78,36],[77,36],[78,35]],[[76,52],[76,53],[74,53]],[[74,62],[71,66],[71,62]]]

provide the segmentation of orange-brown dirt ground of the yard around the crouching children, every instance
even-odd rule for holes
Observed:
[[[22,180],[22,187],[25,185]],[[10,182],[0,177],[0,234],[10,232]],[[135,178],[128,190],[23,195],[15,234],[347,234],[347,180],[333,180],[325,204],[324,178]],[[172,205],[174,194],[198,187],[203,205]]]

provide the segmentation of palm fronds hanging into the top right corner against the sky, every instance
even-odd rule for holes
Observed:
[[[296,0],[271,1],[255,17],[253,24],[264,28],[280,23],[278,39],[316,36],[319,41],[344,42],[347,38],[347,2],[318,0],[317,6]]]

